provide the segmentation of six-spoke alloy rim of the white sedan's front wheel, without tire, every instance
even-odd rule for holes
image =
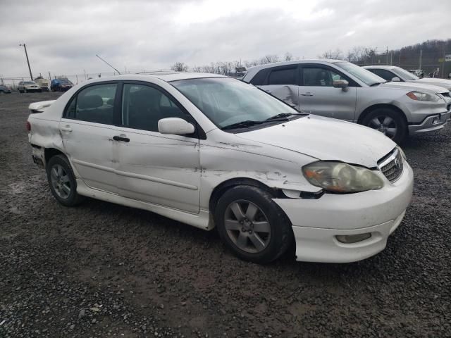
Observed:
[[[233,201],[224,213],[230,240],[242,251],[259,253],[271,239],[271,225],[261,209],[250,201]]]

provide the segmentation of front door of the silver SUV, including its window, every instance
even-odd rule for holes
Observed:
[[[345,90],[333,87],[334,80],[347,80]],[[335,68],[302,64],[299,68],[300,110],[341,120],[354,120],[357,83]]]

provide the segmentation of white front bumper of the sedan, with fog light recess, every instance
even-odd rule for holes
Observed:
[[[297,261],[347,263],[382,251],[400,225],[412,198],[413,172],[404,162],[399,180],[380,190],[324,194],[319,199],[273,199],[292,223]],[[371,233],[345,244],[336,236]]]

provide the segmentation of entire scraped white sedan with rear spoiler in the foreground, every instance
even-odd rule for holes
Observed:
[[[388,137],[230,77],[118,75],[30,110],[32,156],[60,204],[89,196],[216,226],[249,261],[292,244],[298,261],[367,258],[412,196],[412,168]]]

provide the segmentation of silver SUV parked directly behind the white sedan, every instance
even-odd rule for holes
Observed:
[[[383,78],[345,61],[302,60],[249,68],[242,79],[293,107],[359,123],[395,142],[439,130],[451,115],[449,92]]]

